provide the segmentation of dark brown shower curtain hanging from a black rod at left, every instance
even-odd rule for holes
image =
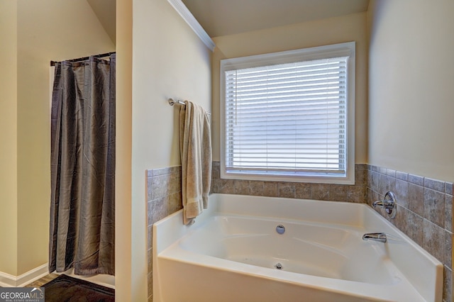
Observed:
[[[115,274],[115,61],[55,65],[49,272]]]

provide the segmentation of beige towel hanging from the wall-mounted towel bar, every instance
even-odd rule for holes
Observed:
[[[179,149],[182,158],[183,223],[192,223],[208,206],[211,186],[211,130],[201,106],[184,101],[179,108]]]

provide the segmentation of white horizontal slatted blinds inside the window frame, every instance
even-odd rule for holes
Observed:
[[[345,174],[348,57],[225,72],[226,170]]]

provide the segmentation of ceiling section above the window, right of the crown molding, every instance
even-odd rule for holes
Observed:
[[[211,38],[367,11],[369,0],[182,0]]]

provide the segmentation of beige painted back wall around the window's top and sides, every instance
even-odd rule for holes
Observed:
[[[219,63],[231,57],[259,55],[305,47],[356,41],[355,162],[367,162],[367,30],[366,13],[256,30],[214,38],[213,160],[219,160]]]

